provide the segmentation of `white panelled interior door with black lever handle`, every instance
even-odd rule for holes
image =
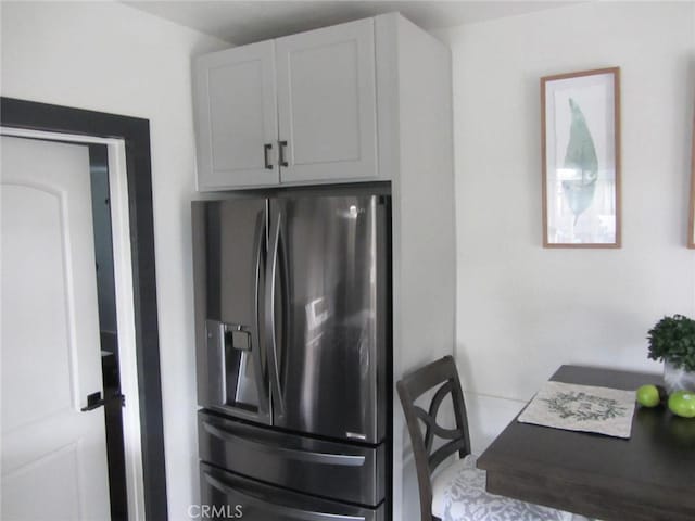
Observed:
[[[1,517],[108,520],[88,149],[1,139]]]

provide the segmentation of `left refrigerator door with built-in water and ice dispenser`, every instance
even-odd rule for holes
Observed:
[[[266,200],[193,203],[198,402],[271,422],[262,320]]]

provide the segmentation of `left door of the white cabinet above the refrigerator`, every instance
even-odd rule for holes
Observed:
[[[200,190],[278,183],[274,52],[262,41],[197,59]]]

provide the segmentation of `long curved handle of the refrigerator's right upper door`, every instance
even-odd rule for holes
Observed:
[[[275,295],[276,279],[279,272],[278,250],[280,243],[280,226],[282,225],[282,213],[278,211],[270,227],[270,243],[268,247],[268,263],[266,266],[265,279],[265,328],[268,339],[268,372],[270,374],[270,389],[274,394],[274,415],[285,416],[285,402],[280,389],[280,370],[278,360],[278,342],[275,334]]]

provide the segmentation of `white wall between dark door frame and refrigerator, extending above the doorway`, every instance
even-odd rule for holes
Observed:
[[[2,2],[2,96],[150,120],[168,511],[198,500],[190,56],[229,47],[111,2]]]

